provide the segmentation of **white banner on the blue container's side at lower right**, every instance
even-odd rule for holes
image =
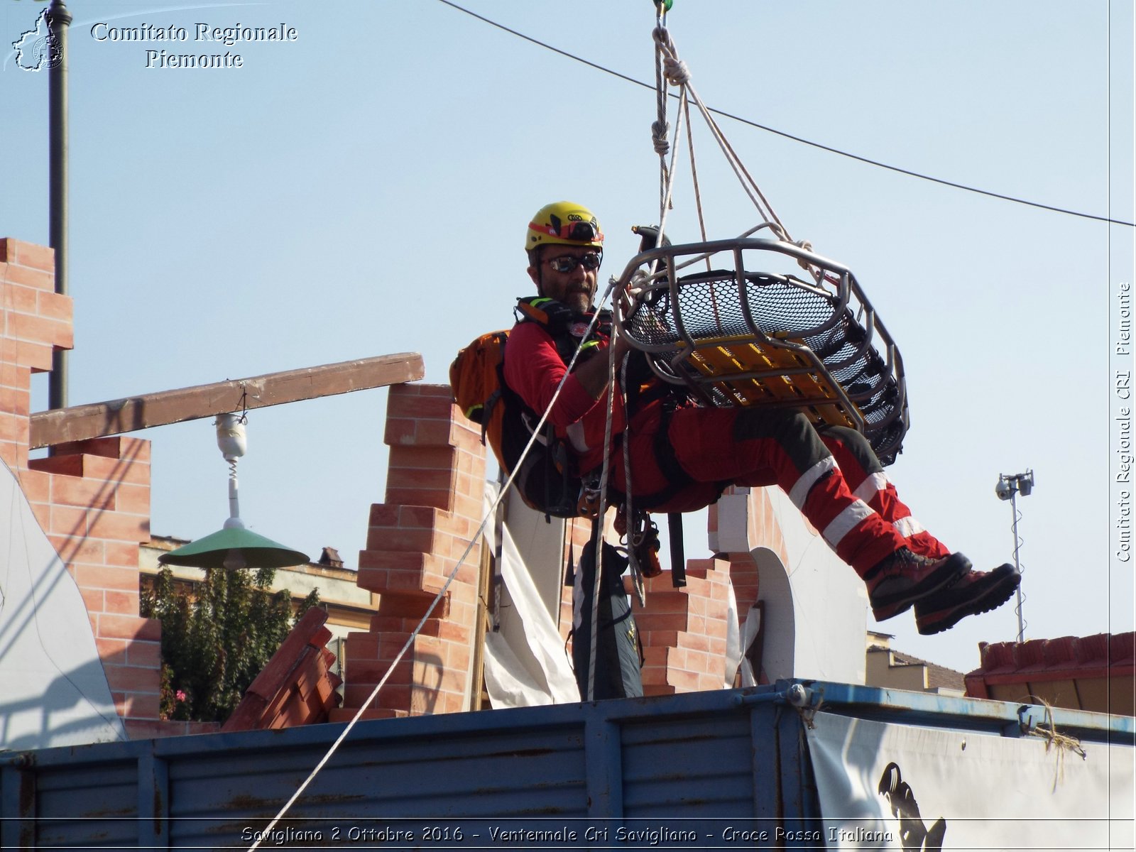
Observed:
[[[824,840],[849,850],[1131,850],[1131,747],[888,725],[808,730]]]

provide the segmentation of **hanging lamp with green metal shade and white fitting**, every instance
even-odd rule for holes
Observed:
[[[303,565],[306,554],[244,528],[236,493],[236,462],[247,449],[244,415],[217,417],[217,446],[228,462],[228,519],[219,531],[158,557],[162,565],[193,568],[286,568]]]

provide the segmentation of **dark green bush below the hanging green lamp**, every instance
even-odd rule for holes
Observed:
[[[206,569],[204,580],[178,588],[165,567],[142,592],[140,610],[161,621],[164,719],[224,721],[281,646],[319,601],[312,590],[292,618],[287,590],[272,592],[276,571]]]

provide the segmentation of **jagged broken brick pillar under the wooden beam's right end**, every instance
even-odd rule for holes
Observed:
[[[386,502],[370,509],[361,587],[379,594],[370,630],[346,642],[346,684],[332,720],[354,716],[391,667],[458,565],[482,519],[485,448],[458,415],[449,385],[390,390],[385,443],[391,448]],[[468,709],[481,548],[466,557],[365,718]]]

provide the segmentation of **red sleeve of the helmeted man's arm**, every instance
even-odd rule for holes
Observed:
[[[504,348],[504,381],[529,408],[543,414],[566,371],[565,362],[544,328],[536,323],[518,323],[512,327]],[[567,428],[596,403],[579,379],[568,376],[557,404],[549,412],[549,423]]]

